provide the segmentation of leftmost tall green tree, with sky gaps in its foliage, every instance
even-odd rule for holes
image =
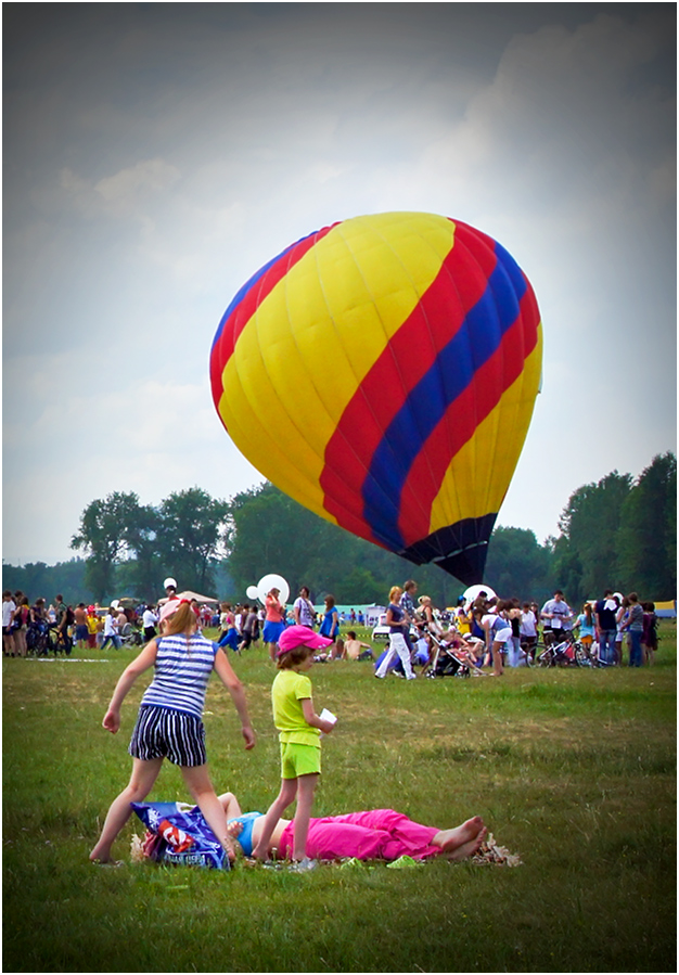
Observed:
[[[91,501],[80,516],[80,529],[71,548],[85,551],[85,585],[99,602],[115,591],[116,566],[127,553],[127,529],[138,509],[136,493],[114,491]]]

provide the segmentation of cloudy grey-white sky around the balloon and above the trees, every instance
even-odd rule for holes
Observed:
[[[3,559],[113,490],[261,482],[231,297],[336,220],[426,210],[535,288],[542,394],[499,524],[676,449],[674,3],[4,3]],[[262,572],[270,567],[262,566]]]

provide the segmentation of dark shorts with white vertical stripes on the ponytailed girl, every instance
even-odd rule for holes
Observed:
[[[169,758],[174,765],[190,768],[205,765],[205,726],[187,711],[143,704],[128,752],[142,761]]]

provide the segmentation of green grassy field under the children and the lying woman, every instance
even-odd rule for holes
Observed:
[[[315,703],[340,717],[315,812],[390,806],[449,826],[473,813],[514,869],[427,863],[230,873],[89,864],[126,783],[123,729],[101,728],[127,651],[107,663],[3,659],[4,972],[675,972],[676,628],[652,668],[515,670],[376,681],[369,663],[317,665]],[[235,658],[258,733],[241,746],[215,681],[207,745],[218,791],[264,810],[278,788],[273,677]],[[187,798],[167,766],[152,798]]]

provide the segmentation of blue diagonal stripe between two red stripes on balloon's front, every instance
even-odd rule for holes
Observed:
[[[516,321],[526,281],[511,255],[495,244],[497,265],[486,290],[451,341],[411,389],[373,453],[362,487],[363,517],[376,541],[398,551],[398,527],[408,475],[446,410],[473,382]]]

